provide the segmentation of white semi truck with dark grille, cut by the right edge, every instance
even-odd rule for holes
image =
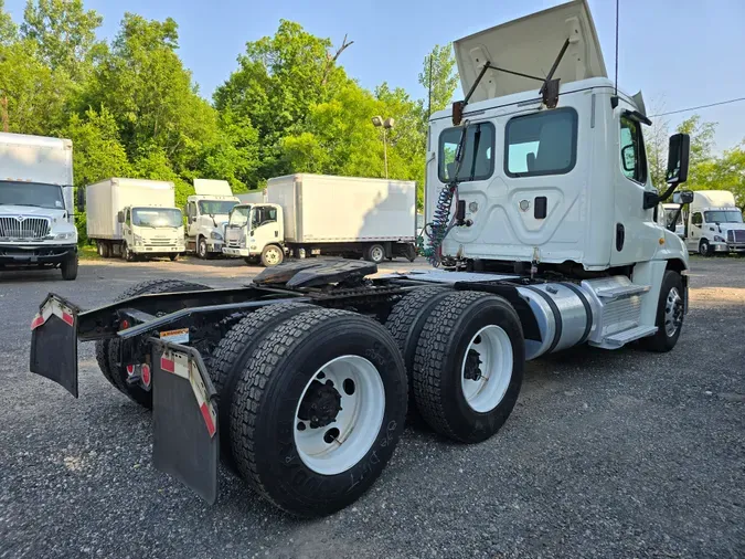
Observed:
[[[743,213],[728,190],[693,192],[688,212],[685,244],[702,256],[714,253],[745,253]]]

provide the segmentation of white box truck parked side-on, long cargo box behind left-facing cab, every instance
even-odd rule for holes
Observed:
[[[286,254],[413,261],[415,228],[413,181],[288,175],[269,179],[265,203],[233,209],[223,252],[265,266]]]

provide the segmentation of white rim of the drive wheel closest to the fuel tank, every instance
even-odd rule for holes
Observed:
[[[460,388],[466,403],[487,413],[504,398],[512,379],[514,358],[503,328],[489,325],[471,338],[460,367]]]

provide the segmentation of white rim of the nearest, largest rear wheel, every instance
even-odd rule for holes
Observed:
[[[332,359],[306,384],[295,410],[300,460],[321,475],[348,471],[372,447],[384,414],[385,388],[377,368],[359,356]]]

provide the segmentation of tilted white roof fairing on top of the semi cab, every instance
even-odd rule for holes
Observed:
[[[545,77],[567,39],[570,45],[554,78],[566,84],[607,77],[587,2],[574,0],[456,41],[454,48],[464,94],[471,88],[486,61],[500,68]],[[470,101],[540,87],[541,83],[535,80],[489,70]]]

